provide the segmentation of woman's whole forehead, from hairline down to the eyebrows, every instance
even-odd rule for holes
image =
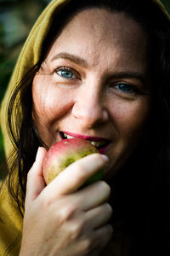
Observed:
[[[138,23],[124,13],[107,9],[85,9],[77,13],[55,40],[49,55],[59,51],[101,61],[105,55],[143,61],[147,37]],[[90,61],[90,60],[89,60]]]

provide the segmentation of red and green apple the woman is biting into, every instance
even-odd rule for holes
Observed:
[[[70,138],[55,143],[54,146],[49,148],[43,162],[42,169],[45,182],[47,184],[50,183],[59,172],[63,171],[71,163],[94,153],[99,153],[99,150],[82,138]],[[103,171],[101,170],[89,177],[85,185],[99,181],[102,176]]]

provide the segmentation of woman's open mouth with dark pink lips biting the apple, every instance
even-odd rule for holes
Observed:
[[[87,137],[79,134],[73,134],[73,133],[68,133],[64,131],[59,131],[59,135],[62,140],[69,139],[69,138],[74,138],[74,137],[80,137],[82,139],[85,139],[89,141],[95,148],[99,150],[100,154],[103,154],[105,150],[109,147],[111,144],[111,140],[105,139],[102,137]]]

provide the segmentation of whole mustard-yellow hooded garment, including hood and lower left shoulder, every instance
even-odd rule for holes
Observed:
[[[42,42],[47,35],[54,11],[56,9],[59,10],[60,7],[69,1],[71,0],[54,0],[48,4],[31,29],[26,44],[24,44],[24,47],[21,50],[1,106],[1,127],[6,155],[8,155],[13,148],[5,125],[7,123],[6,109],[10,95],[14,90],[14,86],[19,84],[20,79],[23,78],[27,71],[29,71],[39,60]],[[162,3],[159,0],[155,0],[155,2],[159,4],[164,14],[167,15],[167,19],[169,19],[170,15]],[[8,195],[8,185],[6,182],[3,183],[3,188],[0,191],[0,255],[19,255],[23,219],[18,208],[14,205],[14,201],[11,199],[10,195]],[[119,224],[117,224],[117,227],[119,227]],[[122,239],[119,239],[119,241],[115,238],[115,241],[113,242],[115,253],[111,252],[110,255],[129,255],[127,253],[129,244],[126,234],[123,234]]]

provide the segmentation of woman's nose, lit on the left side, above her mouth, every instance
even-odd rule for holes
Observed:
[[[104,124],[109,119],[104,98],[95,86],[83,86],[77,93],[72,115],[88,128]]]

